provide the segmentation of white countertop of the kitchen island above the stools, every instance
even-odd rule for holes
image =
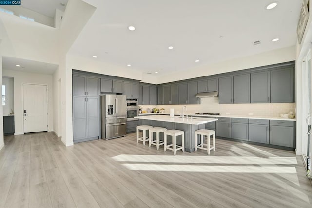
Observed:
[[[182,123],[182,124],[192,124],[199,125],[205,124],[213,121],[217,121],[217,118],[194,118],[194,117],[184,117],[181,118],[179,116],[175,116],[171,118],[169,115],[160,115],[153,113],[154,115],[146,115],[146,116],[136,116],[134,118],[143,119],[143,120],[152,120],[152,121],[165,121],[165,122],[173,122],[173,123]]]

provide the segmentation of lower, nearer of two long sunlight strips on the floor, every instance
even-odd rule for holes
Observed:
[[[224,172],[224,173],[296,173],[295,167],[276,166],[196,166],[122,164],[129,170],[173,171],[173,172]]]

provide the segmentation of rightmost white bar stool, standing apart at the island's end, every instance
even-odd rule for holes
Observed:
[[[198,143],[198,135],[200,135],[200,143]],[[207,144],[204,144],[204,137],[207,136]],[[213,136],[213,146],[210,147],[210,136]],[[204,148],[204,145],[207,145],[207,148]],[[202,150],[207,150],[207,153],[210,154],[210,150],[215,151],[215,131],[209,129],[199,129],[195,131],[195,151],[197,148]]]

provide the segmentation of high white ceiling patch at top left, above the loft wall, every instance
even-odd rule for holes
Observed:
[[[21,0],[21,6],[54,18],[55,10],[64,11],[68,0]],[[65,6],[61,5],[65,4]]]

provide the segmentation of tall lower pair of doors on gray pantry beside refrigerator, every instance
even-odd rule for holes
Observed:
[[[99,138],[99,97],[73,97],[73,141]]]

